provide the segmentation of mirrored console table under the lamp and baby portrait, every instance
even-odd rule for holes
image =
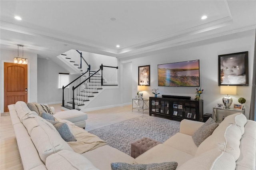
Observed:
[[[235,113],[242,113],[242,114],[244,114],[245,109],[239,110],[239,109],[233,109],[233,108],[224,109],[224,108],[213,107],[212,111],[213,111],[214,121],[220,123],[228,115],[232,115],[232,114],[235,114]]]

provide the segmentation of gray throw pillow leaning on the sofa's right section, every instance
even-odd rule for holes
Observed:
[[[212,118],[209,118],[204,125],[202,125],[196,132],[192,135],[192,138],[198,147],[208,136],[212,134],[216,127],[218,127],[218,123],[216,123]]]

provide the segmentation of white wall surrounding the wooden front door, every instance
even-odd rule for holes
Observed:
[[[25,48],[25,47],[24,47]],[[13,58],[18,56],[18,51],[1,49],[1,113],[4,112],[4,62],[13,62]],[[19,55],[20,56],[20,55]],[[37,54],[24,51],[24,58],[28,59],[28,102],[37,101]]]

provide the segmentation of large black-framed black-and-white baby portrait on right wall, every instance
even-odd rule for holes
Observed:
[[[220,85],[248,86],[248,51],[218,56]]]

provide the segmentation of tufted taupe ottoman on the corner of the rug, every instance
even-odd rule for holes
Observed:
[[[153,148],[154,146],[160,144],[162,142],[158,142],[154,139],[150,139],[147,137],[144,137],[140,140],[137,140],[136,142],[133,142],[131,144],[131,156],[133,158],[136,158],[149,150],[150,148]]]

